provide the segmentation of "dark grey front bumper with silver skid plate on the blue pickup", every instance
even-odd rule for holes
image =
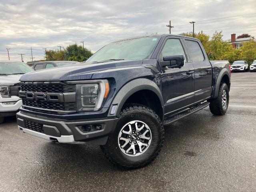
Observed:
[[[60,143],[104,145],[116,128],[117,118],[63,120],[18,112],[18,128],[24,133]],[[101,130],[82,131],[81,126],[101,125]]]

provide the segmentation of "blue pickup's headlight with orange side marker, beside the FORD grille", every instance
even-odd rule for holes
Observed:
[[[78,111],[98,111],[109,92],[108,80],[92,80],[76,84]]]

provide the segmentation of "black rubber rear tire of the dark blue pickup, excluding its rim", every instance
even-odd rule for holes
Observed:
[[[223,90],[226,91],[226,106],[225,108],[222,107],[222,93]],[[220,88],[218,91],[218,97],[210,101],[210,111],[214,115],[224,115],[228,110],[228,103],[229,103],[229,90],[226,83],[221,83]]]

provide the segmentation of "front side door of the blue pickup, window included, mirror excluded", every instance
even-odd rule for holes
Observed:
[[[172,114],[194,103],[194,66],[188,62],[182,38],[170,37],[164,41],[158,60],[164,56],[184,55],[184,66],[162,68],[162,95],[164,99],[164,112]]]

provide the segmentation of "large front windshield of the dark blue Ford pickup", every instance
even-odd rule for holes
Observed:
[[[159,38],[142,37],[110,43],[98,50],[86,62],[145,59],[153,51]]]

